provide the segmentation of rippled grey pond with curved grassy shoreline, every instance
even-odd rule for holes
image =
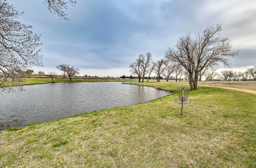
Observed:
[[[144,103],[170,94],[120,82],[50,83],[24,89],[0,95],[0,130]]]

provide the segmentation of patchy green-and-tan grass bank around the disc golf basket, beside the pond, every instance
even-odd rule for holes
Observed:
[[[199,87],[185,117],[175,96],[1,131],[0,167],[256,166],[255,95]]]

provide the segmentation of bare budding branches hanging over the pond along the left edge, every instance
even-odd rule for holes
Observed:
[[[24,70],[41,66],[40,36],[31,31],[31,25],[17,21],[22,14],[0,1],[0,92],[14,89],[6,86],[19,85],[26,77]]]

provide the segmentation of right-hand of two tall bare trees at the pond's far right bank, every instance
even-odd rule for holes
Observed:
[[[152,62],[152,54],[150,52],[145,55],[139,55],[141,69],[142,69],[142,82],[144,82],[145,75],[150,71],[150,64]]]

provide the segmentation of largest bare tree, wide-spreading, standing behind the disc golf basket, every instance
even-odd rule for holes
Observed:
[[[232,48],[228,38],[220,35],[221,30],[221,25],[209,26],[196,34],[195,38],[190,34],[182,36],[176,49],[169,48],[165,53],[165,58],[181,64],[187,70],[191,90],[197,89],[201,71],[219,63],[229,65],[228,58],[239,53]]]

